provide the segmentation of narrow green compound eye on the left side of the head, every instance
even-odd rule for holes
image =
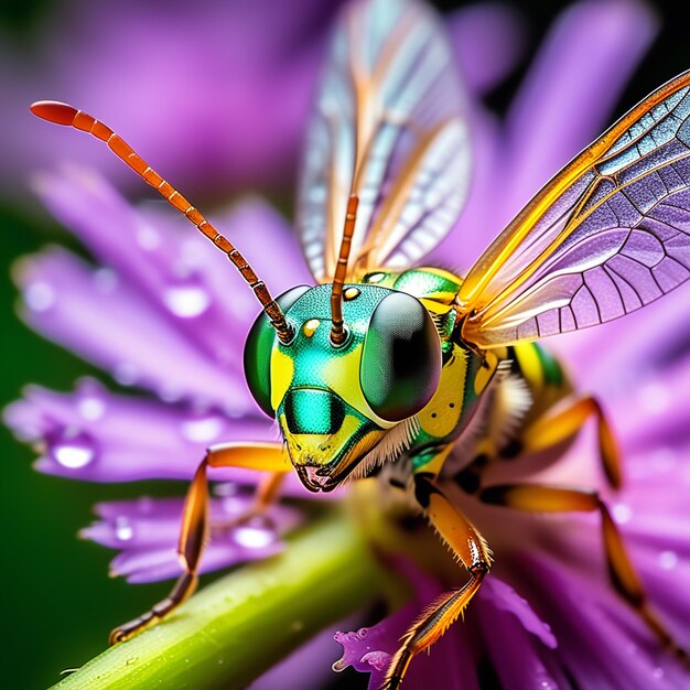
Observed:
[[[283,292],[276,302],[283,314],[309,290],[298,285]],[[269,317],[261,312],[249,331],[245,343],[245,376],[257,405],[269,416],[276,417],[271,407],[271,352],[276,343],[276,330]]]

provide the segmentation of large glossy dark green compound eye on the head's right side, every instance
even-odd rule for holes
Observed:
[[[417,414],[441,378],[441,341],[422,303],[405,292],[384,298],[364,342],[359,382],[369,407],[397,422]]]

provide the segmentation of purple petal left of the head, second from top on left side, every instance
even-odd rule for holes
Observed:
[[[111,270],[91,269],[53,248],[24,259],[15,274],[26,303],[24,320],[120,384],[235,414],[256,409],[236,371],[211,362]]]

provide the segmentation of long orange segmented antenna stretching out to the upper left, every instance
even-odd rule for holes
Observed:
[[[108,148],[139,176],[143,177],[159,194],[180,213],[186,216],[228,259],[235,265],[241,277],[259,300],[266,315],[270,319],[278,337],[283,343],[292,339],[292,328],[285,322],[285,315],[271,297],[266,283],[259,280],[251,266],[233,244],[204,218],[200,211],[177,192],[169,182],[163,180],[119,134],[107,125],[93,118],[82,110],[55,100],[40,100],[30,106],[31,111],[48,122],[65,125],[88,132],[108,144]]]

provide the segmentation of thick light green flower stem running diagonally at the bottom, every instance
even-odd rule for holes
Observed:
[[[376,561],[344,515],[289,542],[280,556],[204,587],[164,623],[107,649],[55,688],[244,688],[380,592]]]

